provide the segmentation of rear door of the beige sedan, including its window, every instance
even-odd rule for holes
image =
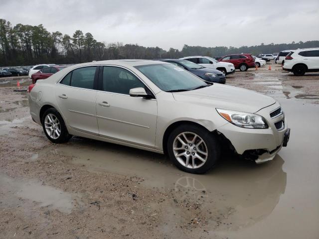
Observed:
[[[97,66],[74,69],[56,85],[55,98],[67,124],[84,133],[99,134],[95,99]]]

